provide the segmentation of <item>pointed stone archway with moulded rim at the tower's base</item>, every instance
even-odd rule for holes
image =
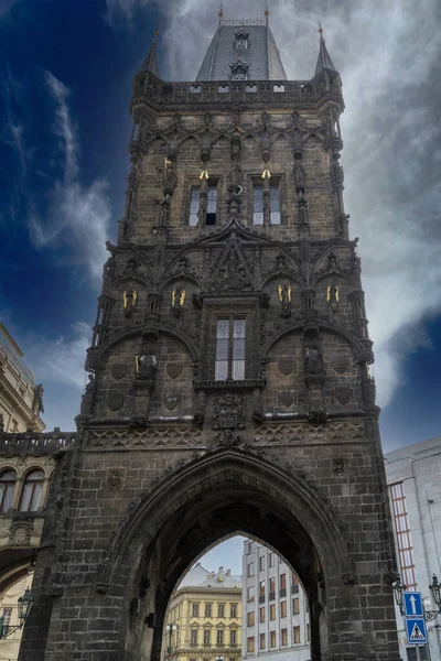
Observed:
[[[116,540],[109,596],[130,603],[125,661],[159,661],[168,603],[179,578],[207,546],[232,532],[272,546],[295,570],[311,614],[311,659],[324,658],[337,615],[327,607],[351,573],[345,543],[326,503],[298,475],[238,449],[185,466],[149,494]]]

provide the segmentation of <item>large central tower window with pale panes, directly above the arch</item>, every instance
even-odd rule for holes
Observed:
[[[245,379],[245,319],[217,319],[215,380],[243,381]],[[254,567],[254,563],[252,567]],[[249,567],[250,565],[248,565]],[[248,576],[254,576],[248,574]]]

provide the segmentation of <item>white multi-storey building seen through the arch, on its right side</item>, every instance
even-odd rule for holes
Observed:
[[[243,658],[309,661],[308,600],[299,578],[276,553],[244,543]]]

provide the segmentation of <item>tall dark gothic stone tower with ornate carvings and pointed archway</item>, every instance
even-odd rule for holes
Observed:
[[[398,659],[341,78],[322,34],[314,76],[287,80],[268,17],[219,19],[196,82],[164,83],[155,43],[135,76],[22,661],[159,661],[176,582],[237,532],[299,574],[313,661]]]

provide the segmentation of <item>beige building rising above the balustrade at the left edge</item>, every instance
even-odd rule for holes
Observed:
[[[43,409],[43,386],[24,365],[23,351],[0,324],[0,423],[4,432],[45,430],[40,418]]]

